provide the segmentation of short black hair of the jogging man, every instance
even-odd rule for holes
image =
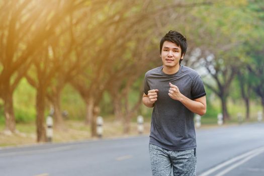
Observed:
[[[169,31],[164,37],[160,40],[159,53],[161,54],[162,46],[165,41],[175,43],[177,46],[180,46],[182,49],[181,56],[183,56],[187,51],[187,39],[181,33],[177,31]],[[182,59],[180,60],[181,63]]]

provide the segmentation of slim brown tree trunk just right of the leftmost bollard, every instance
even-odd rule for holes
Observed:
[[[54,107],[54,128],[58,130],[64,130],[64,120],[61,115],[61,109],[60,109],[60,93],[57,92],[54,94],[53,100],[53,107]]]

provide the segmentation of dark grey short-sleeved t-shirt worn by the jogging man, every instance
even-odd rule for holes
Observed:
[[[168,96],[169,82],[179,87],[180,92],[191,100],[206,95],[200,75],[193,69],[180,66],[177,73],[165,74],[163,66],[145,74],[144,93],[157,89],[154,104],[149,143],[167,150],[188,150],[196,148],[194,113],[181,102]]]

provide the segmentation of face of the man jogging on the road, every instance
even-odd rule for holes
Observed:
[[[175,43],[165,41],[161,50],[161,60],[163,62],[163,66],[166,67],[176,67],[179,65],[181,57],[182,49]]]

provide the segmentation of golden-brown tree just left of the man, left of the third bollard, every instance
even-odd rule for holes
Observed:
[[[141,37],[141,36],[135,36]],[[131,98],[131,92],[133,91],[133,84],[138,80],[138,78],[149,68],[149,63],[151,60],[158,59],[158,50],[156,52],[147,52],[147,48],[154,48],[156,43],[151,43],[151,38],[146,40],[140,38],[134,38],[135,41],[130,41],[132,43],[137,43],[136,45],[128,46],[128,52],[131,53],[131,60],[127,61],[126,58],[123,62],[118,64],[117,70],[111,76],[107,83],[107,90],[111,95],[114,106],[114,114],[117,120],[121,120],[124,126],[124,133],[130,132],[130,121],[133,115],[138,111],[141,100],[143,89],[138,89],[138,98],[135,102],[131,103],[129,100]],[[139,41],[139,42],[136,42]],[[141,81],[139,81],[141,83]],[[139,86],[139,87],[142,87]],[[135,90],[135,87],[134,87]]]

